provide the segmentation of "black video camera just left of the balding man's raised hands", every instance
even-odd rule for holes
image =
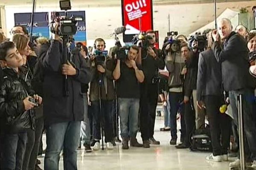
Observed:
[[[194,41],[197,41],[197,43],[193,44]],[[197,48],[199,51],[204,51],[204,49],[207,47],[207,43],[207,36],[205,34],[201,35],[201,33],[195,33],[194,36],[189,38],[190,48]]]

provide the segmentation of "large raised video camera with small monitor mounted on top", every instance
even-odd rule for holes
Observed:
[[[60,16],[58,12],[51,12],[50,31],[64,37],[76,34],[77,22],[84,21],[83,17],[69,17],[67,15],[67,10],[71,9],[70,0],[61,0],[60,8],[65,11],[65,16]],[[53,28],[53,23],[55,22],[59,23],[57,32]]]

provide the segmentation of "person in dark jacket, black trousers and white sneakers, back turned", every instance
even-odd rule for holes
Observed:
[[[222,93],[221,64],[217,62],[211,49],[212,31],[208,33],[208,49],[200,53],[197,79],[198,107],[205,102],[212,142],[212,154],[207,161],[228,161],[227,151],[230,144],[231,118],[220,113],[225,104]]]

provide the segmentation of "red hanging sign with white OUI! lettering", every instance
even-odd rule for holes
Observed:
[[[140,31],[153,30],[152,0],[122,0],[122,24],[124,42],[131,42]]]

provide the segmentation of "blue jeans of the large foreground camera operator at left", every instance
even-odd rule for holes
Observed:
[[[63,149],[64,170],[77,170],[77,148],[81,122],[55,123],[46,127],[47,150],[44,170],[58,170]]]

